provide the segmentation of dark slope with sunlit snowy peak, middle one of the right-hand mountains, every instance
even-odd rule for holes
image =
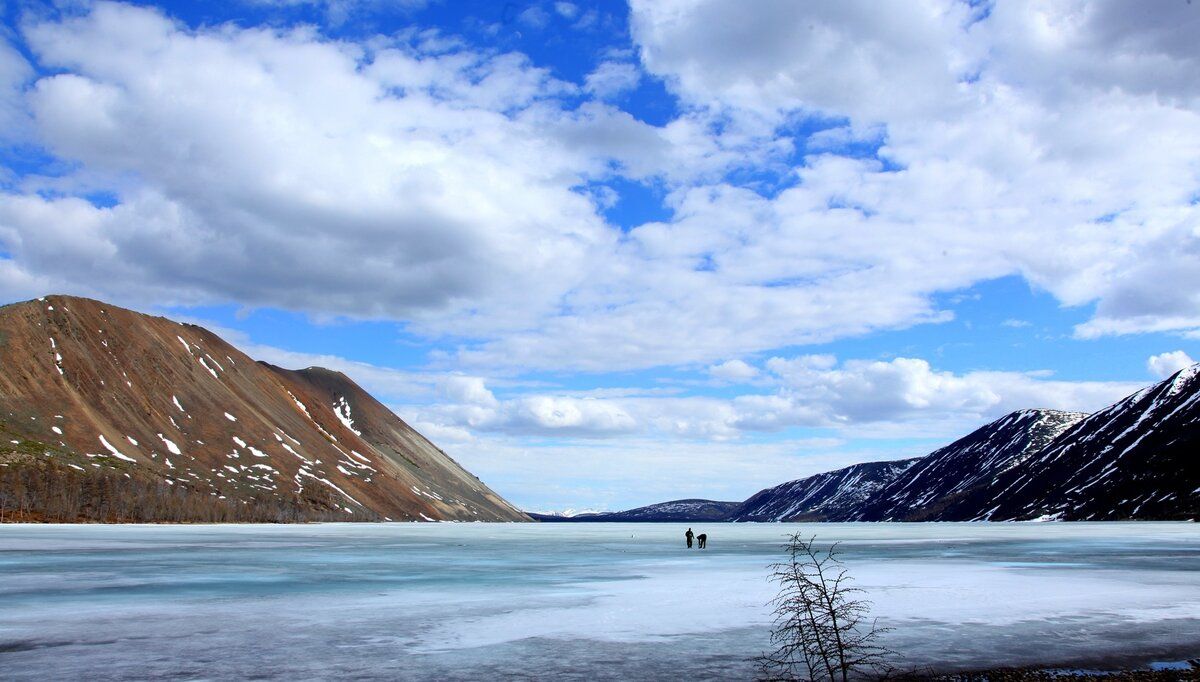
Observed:
[[[904,475],[882,486],[841,520],[949,520],[944,518],[947,507],[965,491],[991,483],[1003,472],[1020,466],[1086,417],[1080,412],[1056,409],[1021,409],[1007,414],[916,460]]]

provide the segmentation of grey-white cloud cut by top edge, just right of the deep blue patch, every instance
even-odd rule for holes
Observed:
[[[768,119],[794,109],[866,122],[922,116],[960,96],[956,80],[971,65],[962,2],[631,5],[649,71],[691,102]]]

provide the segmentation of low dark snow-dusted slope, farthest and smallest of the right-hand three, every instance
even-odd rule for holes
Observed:
[[[866,462],[818,473],[756,492],[731,514],[733,521],[833,521],[853,515],[880,489],[918,460]]]

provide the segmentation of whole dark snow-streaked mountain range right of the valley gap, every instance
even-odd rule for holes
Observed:
[[[1096,414],[1022,409],[924,457],[853,465],[730,504],[688,499],[574,520],[1200,519],[1200,364]]]

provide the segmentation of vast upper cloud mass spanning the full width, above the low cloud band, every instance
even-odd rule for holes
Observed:
[[[680,101],[653,126],[602,101],[620,61],[581,89],[428,31],[101,2],[24,29],[19,107],[77,170],[0,195],[0,287],[397,319],[475,373],[704,366],[1009,275],[1093,306],[1079,337],[1195,333],[1195,12],[1168,5],[634,2],[635,72]],[[606,223],[616,178],[670,216]]]

